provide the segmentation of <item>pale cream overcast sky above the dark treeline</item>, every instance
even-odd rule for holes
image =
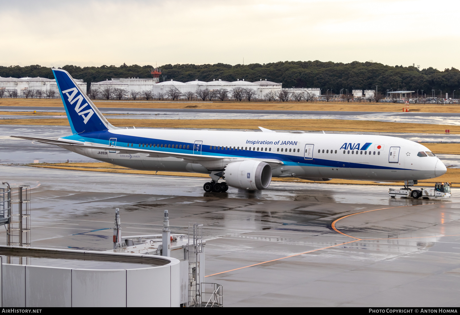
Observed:
[[[373,60],[460,69],[459,1],[0,0],[0,65]]]

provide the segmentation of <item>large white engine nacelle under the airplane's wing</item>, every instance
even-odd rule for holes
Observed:
[[[261,161],[229,163],[224,170],[227,185],[240,189],[262,190],[271,183],[271,167]]]

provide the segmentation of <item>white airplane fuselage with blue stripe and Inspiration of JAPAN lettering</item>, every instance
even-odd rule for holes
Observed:
[[[132,169],[209,174],[231,160],[276,159],[273,177],[339,178],[378,181],[422,180],[443,175],[444,164],[435,156],[417,156],[429,149],[396,137],[356,134],[275,133],[187,129],[115,129],[64,137],[85,142],[88,148],[67,149],[100,161]],[[115,141],[115,145],[114,145]],[[114,151],[91,145],[114,146]],[[218,161],[151,157],[146,153],[117,153],[123,147],[155,152],[222,156]],[[116,148],[116,151],[115,151]],[[390,155],[391,153],[391,155]],[[240,161],[241,161],[240,159]]]

